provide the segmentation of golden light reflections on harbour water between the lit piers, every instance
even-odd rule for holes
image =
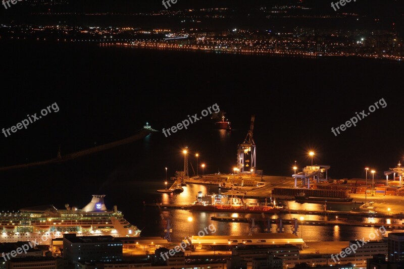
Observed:
[[[161,201],[163,204],[190,204],[192,203],[198,191],[202,191],[205,193],[218,193],[217,186],[209,186],[209,185],[195,185],[188,184],[188,186],[183,187],[184,191],[180,194],[161,194]],[[245,200],[246,201],[246,200]],[[257,202],[256,199],[248,199],[248,202]],[[317,203],[304,203],[300,204],[294,201],[287,201],[284,204],[288,204],[290,209],[302,209],[302,210],[324,210],[323,204]],[[333,210],[351,210],[355,209],[355,204],[332,204]],[[327,205],[327,209],[329,209],[329,205]],[[348,209],[349,208],[349,209]],[[171,219],[173,234],[171,236],[172,240],[181,240],[184,237],[191,235],[197,235],[198,232],[204,231],[205,228],[209,227],[209,225],[213,224],[216,228],[216,235],[247,235],[250,231],[249,223],[228,223],[228,222],[217,222],[212,221],[211,217],[213,216],[232,216],[232,217],[247,217],[256,219],[256,226],[258,227],[259,233],[264,232],[264,229],[267,226],[267,222],[260,222],[258,220],[262,219],[262,214],[258,213],[231,213],[231,212],[201,212],[194,211],[190,212],[189,210],[183,209],[166,209],[163,211],[163,215],[165,220]],[[192,223],[188,222],[187,219],[189,216],[193,217]],[[330,226],[311,226],[308,225],[307,222],[310,221],[335,221],[335,215],[314,215],[314,214],[291,214],[289,213],[279,213],[279,214],[265,214],[265,218],[270,219],[290,219],[296,218],[299,220],[301,216],[304,216],[304,225],[301,229],[299,227],[299,232],[297,233],[298,237],[301,237],[301,234],[305,241],[349,241],[355,239],[362,239],[363,237],[368,238],[369,234],[374,232],[378,227],[345,227],[339,225],[330,225]],[[342,218],[342,217],[341,217]],[[343,217],[345,218],[345,217]],[[365,223],[377,223],[383,221],[379,218],[357,218],[358,221],[362,221]],[[159,226],[161,229],[164,228],[165,221],[159,220]],[[301,224],[298,221],[299,225]],[[285,233],[291,233],[291,225],[284,224]],[[276,233],[276,224],[271,224],[272,233]],[[209,231],[209,230],[208,230]],[[203,232],[205,233],[205,232]],[[209,233],[212,233],[209,231]],[[202,233],[201,233],[202,234]],[[376,236],[376,239],[381,239],[380,233],[379,236]]]

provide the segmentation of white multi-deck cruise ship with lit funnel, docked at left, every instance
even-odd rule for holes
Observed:
[[[38,243],[48,245],[51,238],[63,238],[63,234],[72,233],[77,236],[138,237],[141,231],[123,218],[116,205],[114,210],[107,209],[104,197],[92,195],[91,201],[82,209],[69,204],[65,205],[66,209],[44,205],[22,208],[17,213],[1,213],[0,242],[36,239]]]

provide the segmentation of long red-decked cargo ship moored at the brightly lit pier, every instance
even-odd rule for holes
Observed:
[[[280,208],[280,207],[279,207]],[[235,213],[262,213],[279,210],[272,203],[245,203],[242,198],[223,194],[203,195],[198,192],[196,201],[191,205],[195,211],[235,212]]]

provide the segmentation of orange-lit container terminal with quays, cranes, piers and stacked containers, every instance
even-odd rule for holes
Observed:
[[[401,168],[400,163],[384,172],[385,180],[374,179],[375,171],[369,168],[364,168],[366,171],[365,179],[331,179],[328,175],[331,166],[313,164],[315,152],[311,151],[309,152],[309,156],[312,158],[310,166],[299,170],[295,165],[292,168],[294,173],[290,176],[266,176],[262,170],[257,170],[256,166],[257,146],[253,139],[254,121],[255,116],[253,115],[250,129],[244,141],[237,145],[234,173],[205,175],[203,170],[202,175],[196,173],[193,177],[189,176],[189,149],[185,147],[183,150],[183,170],[177,171],[175,177],[171,178],[174,181],[170,183],[171,187],[168,187],[166,179],[166,188],[158,190],[158,192],[169,195],[175,195],[175,190],[177,190],[178,195],[181,195],[181,191],[178,190],[182,189],[182,186],[203,184],[217,185],[219,193],[209,194],[199,191],[195,201],[191,204],[163,204],[160,202],[144,204],[145,206],[157,206],[161,212],[175,209],[215,212],[215,216],[211,217],[213,223],[249,224],[248,235],[209,235],[202,238],[190,234],[185,239],[192,242],[192,247],[187,250],[189,251],[188,255],[194,257],[205,255],[208,257],[220,253],[220,255],[228,255],[227,257],[230,258],[232,257],[231,254],[234,254],[235,246],[240,247],[240,253],[242,251],[258,253],[259,249],[267,248],[284,250],[287,247],[295,247],[297,253],[301,255],[298,262],[307,259],[313,262],[313,266],[315,263],[316,265],[338,266],[338,263],[324,259],[322,255],[338,253],[350,242],[306,243],[303,236],[299,236],[304,226],[367,227],[374,229],[384,227],[387,231],[404,230],[404,221],[402,221],[404,220],[404,210],[402,210],[401,205],[404,201],[404,186],[402,186],[401,181],[404,169]],[[201,168],[204,167],[202,164]],[[257,199],[257,202],[247,202],[247,199]],[[322,204],[323,210],[291,209],[288,206],[290,201],[301,204]],[[335,204],[355,204],[356,210],[331,210]],[[228,212],[230,214],[229,216],[223,214],[216,216],[216,212]],[[301,217],[299,219],[294,217],[296,214]],[[289,218],[286,218],[287,215]],[[305,215],[324,216],[324,220],[305,220],[303,217]],[[161,216],[164,219],[163,214]],[[361,218],[374,219],[374,221],[363,222],[359,220]],[[166,221],[165,239],[171,242],[170,234],[173,231],[171,220]],[[258,226],[256,224],[259,223],[264,227],[261,233],[257,232]],[[291,227],[291,233],[285,232],[286,226]],[[386,253],[387,243],[385,240],[369,242],[372,245],[369,245],[370,248],[375,252],[372,254]],[[187,255],[187,251],[185,255]],[[344,260],[357,263],[352,263],[352,267],[366,267],[366,259],[371,255],[368,250],[365,252],[367,252],[366,255],[364,254],[366,257],[357,255],[353,258],[347,257]],[[293,266],[293,263],[295,262],[284,260],[283,267],[288,268],[289,265]]]

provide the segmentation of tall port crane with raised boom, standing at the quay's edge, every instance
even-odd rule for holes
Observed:
[[[252,133],[254,131],[255,115],[251,116],[251,123],[247,136],[244,142],[237,146],[237,168],[241,173],[256,171],[256,143],[252,139]]]

